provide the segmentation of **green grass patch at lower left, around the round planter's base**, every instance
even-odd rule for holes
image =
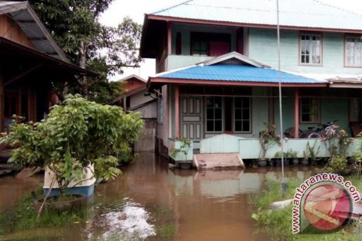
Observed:
[[[41,193],[42,189],[36,191],[38,195]],[[37,222],[37,212],[33,202],[34,198],[31,194],[25,195],[16,205],[0,214],[0,235],[31,228],[71,225],[83,220],[87,213],[85,210],[69,212],[45,210]]]

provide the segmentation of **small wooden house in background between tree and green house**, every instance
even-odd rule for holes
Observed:
[[[157,100],[155,96],[147,94],[146,80],[132,74],[119,80],[124,93],[114,99],[114,103],[122,106],[126,111],[138,111],[145,120],[146,129],[156,129]]]

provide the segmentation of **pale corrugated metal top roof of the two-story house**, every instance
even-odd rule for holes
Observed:
[[[279,0],[280,25],[362,30],[362,16],[316,0]],[[276,25],[276,0],[190,0],[152,15]]]

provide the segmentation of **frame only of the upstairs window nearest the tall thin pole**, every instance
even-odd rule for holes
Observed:
[[[307,41],[307,40],[302,40],[302,37],[309,37],[309,43],[308,43],[308,51],[309,54],[306,54],[307,51],[307,44],[303,44],[302,41]],[[315,55],[313,55],[313,47],[316,48],[317,50],[317,40],[312,40],[313,37],[319,37],[319,55],[317,55],[317,53]],[[304,50],[304,54],[302,54],[302,51]],[[304,61],[307,60],[307,56],[309,57],[309,63],[306,62],[302,62],[302,56],[304,56]],[[312,63],[313,62],[313,56],[319,56],[320,59],[320,63]],[[318,33],[300,33],[299,34],[299,53],[298,53],[298,57],[299,57],[299,65],[312,65],[312,66],[321,66],[323,63],[323,36],[322,34],[318,34]]]

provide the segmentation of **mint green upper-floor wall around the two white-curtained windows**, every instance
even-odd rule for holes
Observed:
[[[322,66],[300,66],[298,59],[299,31],[281,30],[282,70],[301,73],[361,74],[362,68],[344,68],[344,34],[323,33]],[[249,31],[249,57],[278,67],[277,31],[275,29],[251,28]]]

